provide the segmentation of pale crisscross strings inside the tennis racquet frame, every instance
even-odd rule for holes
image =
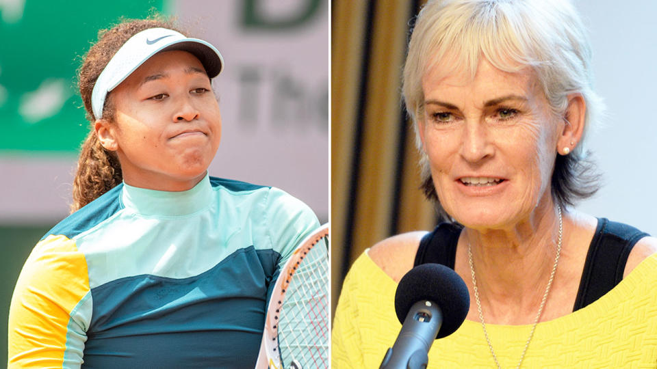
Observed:
[[[279,320],[283,368],[329,368],[329,254],[325,236],[307,251],[289,280]]]

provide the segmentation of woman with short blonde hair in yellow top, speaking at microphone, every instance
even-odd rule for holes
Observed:
[[[333,366],[378,367],[400,329],[397,282],[437,262],[461,275],[472,303],[429,367],[654,367],[657,239],[571,208],[597,189],[583,143],[600,111],[573,5],[430,1],[403,92],[424,191],[448,222],[355,262]]]

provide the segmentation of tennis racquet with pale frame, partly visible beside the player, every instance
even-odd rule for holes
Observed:
[[[329,224],[307,236],[281,269],[256,369],[329,368]]]

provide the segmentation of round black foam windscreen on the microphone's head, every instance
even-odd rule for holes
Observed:
[[[470,295],[463,279],[452,269],[441,264],[421,264],[402,277],[395,293],[395,311],[404,323],[411,306],[428,300],[438,304],[443,314],[443,325],[436,338],[443,338],[461,327],[470,308]]]

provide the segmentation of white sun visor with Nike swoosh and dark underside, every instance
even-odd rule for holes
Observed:
[[[216,47],[198,40],[187,38],[182,33],[166,28],[149,28],[132,36],[121,46],[107,63],[99,75],[91,93],[91,108],[94,118],[103,118],[105,96],[128,78],[144,61],[160,51],[182,50],[198,57],[209,78],[214,78],[224,67],[222,58]]]

